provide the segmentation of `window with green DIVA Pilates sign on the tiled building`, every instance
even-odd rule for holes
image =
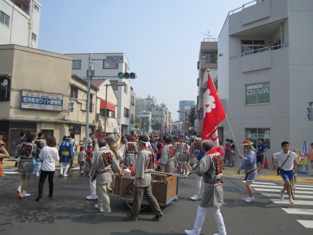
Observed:
[[[269,103],[269,82],[246,85],[246,105]]]

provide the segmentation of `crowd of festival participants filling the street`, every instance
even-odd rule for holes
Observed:
[[[201,199],[201,204],[197,210],[193,230],[185,230],[185,234],[199,235],[206,211],[208,208],[212,208],[218,226],[218,235],[226,235],[220,211],[224,200],[223,169],[227,162],[230,167],[234,166],[234,143],[232,140],[226,139],[225,145],[220,141],[220,146],[214,148],[213,143],[209,140],[202,140],[196,136],[182,137],[179,134],[154,133],[150,136],[123,136],[115,131],[104,137],[100,134],[90,133],[87,149],[85,149],[84,146],[79,147],[74,134],[64,136],[63,141],[57,144],[56,139],[52,136],[45,141],[43,133],[39,133],[36,139],[36,133],[33,131],[29,131],[26,135],[21,132],[21,138],[16,142],[16,167],[21,173],[17,196],[21,199],[30,196],[26,191],[33,172],[33,159],[37,159],[42,164],[38,185],[39,193],[35,200],[39,201],[43,196],[46,177],[48,177],[49,184],[48,196],[52,197],[55,164],[60,163],[59,177],[67,177],[73,167],[75,152],[77,152],[80,174],[89,175],[90,195],[86,199],[98,200],[95,205],[96,209],[102,213],[111,212],[108,192],[113,190],[111,187],[112,172],[118,174],[119,177],[127,174],[134,177],[134,206],[124,220],[137,221],[142,198],[145,196],[155,213],[152,219],[157,221],[163,217],[163,212],[152,193],[151,172],[177,174],[181,178],[196,174],[196,193],[190,199]],[[4,148],[3,141],[1,141],[0,150]],[[257,148],[254,149],[253,144],[255,143],[245,140],[241,144],[243,153],[238,154],[241,164],[237,172],[240,174],[241,170],[245,171],[247,197],[243,200],[247,203],[255,200],[251,183],[255,180],[257,173],[262,171],[264,153],[268,151],[263,142],[264,140],[260,138],[256,145]],[[313,157],[313,144],[311,147],[312,149],[308,153]],[[274,160],[278,161],[279,173],[284,181],[280,199],[284,200],[284,194],[287,191],[289,202],[292,204],[290,182],[295,161],[299,156],[290,151],[287,141],[281,143],[281,148],[281,152],[272,155],[273,164],[276,167]],[[5,151],[4,148],[4,153],[0,153],[1,158],[8,157],[8,153]],[[313,162],[313,159],[311,161]],[[204,192],[201,194],[202,185],[204,185]]]

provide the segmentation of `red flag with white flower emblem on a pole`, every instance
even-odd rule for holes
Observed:
[[[207,76],[207,87],[206,92],[203,94],[203,101],[202,140],[213,141],[213,145],[216,148],[219,146],[217,125],[226,117],[226,113],[210,73]]]

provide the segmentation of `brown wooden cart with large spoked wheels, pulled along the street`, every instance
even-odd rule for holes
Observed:
[[[125,176],[120,178],[117,174],[114,177],[114,194],[125,201],[126,205],[133,208],[134,177]],[[160,206],[166,206],[178,198],[179,178],[176,174],[151,172],[151,185],[153,195]],[[140,210],[149,205],[145,197],[142,200]]]

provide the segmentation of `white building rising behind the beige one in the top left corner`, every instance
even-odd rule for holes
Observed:
[[[0,0],[0,45],[38,48],[40,12],[37,0]]]

